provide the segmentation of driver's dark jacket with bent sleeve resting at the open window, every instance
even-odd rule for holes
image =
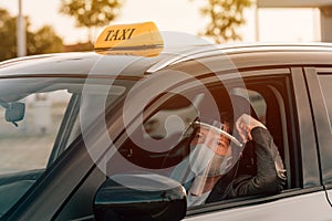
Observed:
[[[282,190],[286,170],[272,136],[262,127],[255,127],[251,135],[256,143],[256,176],[241,175],[230,182],[221,178],[207,202],[250,194],[273,194]],[[225,185],[227,181],[228,185]]]

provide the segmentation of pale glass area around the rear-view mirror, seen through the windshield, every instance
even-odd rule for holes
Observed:
[[[25,105],[23,120],[0,118],[0,173],[46,167],[70,97],[63,90],[33,93],[19,101]],[[3,106],[1,116],[8,112]]]

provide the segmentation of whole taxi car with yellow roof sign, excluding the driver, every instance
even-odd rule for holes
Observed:
[[[0,220],[332,220],[331,85],[332,44],[168,46],[152,22],[107,27],[95,52],[1,62]],[[267,126],[287,183],[187,207],[169,176],[184,134],[224,108]],[[240,161],[256,172],[252,148]]]

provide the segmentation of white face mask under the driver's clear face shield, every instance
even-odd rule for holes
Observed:
[[[190,169],[195,175],[203,175],[214,158],[215,152],[205,144],[190,145],[190,148],[194,148],[189,155]]]

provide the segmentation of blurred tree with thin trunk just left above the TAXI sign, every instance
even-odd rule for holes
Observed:
[[[122,0],[61,0],[60,12],[73,17],[76,27],[87,28],[92,42],[92,29],[104,27],[120,14]]]

